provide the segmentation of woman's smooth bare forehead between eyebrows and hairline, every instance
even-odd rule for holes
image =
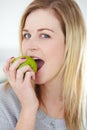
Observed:
[[[56,17],[53,10],[37,9],[31,12],[25,21],[25,28],[27,27],[52,27],[60,26],[60,20]]]

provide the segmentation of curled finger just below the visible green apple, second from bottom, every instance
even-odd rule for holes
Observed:
[[[29,71],[29,72],[32,71],[31,67],[29,67],[28,65],[19,68],[19,69],[17,70],[16,80],[22,82],[23,79],[24,79],[24,77],[25,77],[25,73],[26,73],[27,71]]]

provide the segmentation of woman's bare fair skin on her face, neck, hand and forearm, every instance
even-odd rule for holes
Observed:
[[[28,15],[23,29],[22,52],[24,55],[42,59],[44,61],[42,68],[36,74],[29,66],[16,71],[18,65],[26,59],[19,59],[10,66],[12,58],[6,62],[4,72],[22,104],[15,130],[34,130],[38,107],[46,110],[35,95],[32,80],[40,85],[48,115],[54,118],[64,116],[61,98],[62,79],[58,78],[58,73],[64,61],[65,37],[60,20],[55,17],[52,10],[38,9]]]

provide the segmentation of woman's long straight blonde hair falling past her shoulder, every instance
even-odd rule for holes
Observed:
[[[66,39],[65,60],[60,71],[64,79],[65,121],[68,130],[83,130],[87,117],[87,34],[81,10],[74,0],[34,0],[26,8],[21,20],[20,49],[26,18],[36,9],[51,9],[56,17],[61,18]]]

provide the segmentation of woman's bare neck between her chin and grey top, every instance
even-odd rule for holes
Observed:
[[[62,82],[47,83],[41,86],[41,103],[40,107],[54,118],[64,117],[64,102],[62,99]]]

